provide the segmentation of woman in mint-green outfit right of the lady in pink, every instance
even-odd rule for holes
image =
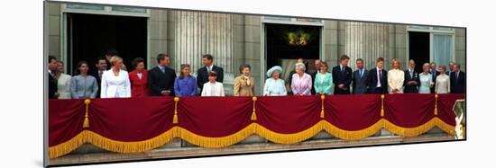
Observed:
[[[327,63],[321,62],[317,75],[315,76],[315,92],[318,94],[331,94],[333,86],[333,75],[327,72]]]

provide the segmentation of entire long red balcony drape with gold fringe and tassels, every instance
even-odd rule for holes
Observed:
[[[400,135],[417,136],[433,123],[452,134],[452,108],[459,99],[464,94],[438,94],[437,102],[435,94],[386,94],[383,100],[379,94],[331,95],[324,100],[320,96],[262,96],[255,101],[252,97],[187,97],[178,102],[172,97],[142,97],[94,99],[88,106],[85,100],[50,100],[49,146],[51,157],[57,157],[86,142],[101,143],[117,152],[150,150],[173,137],[188,138],[199,146],[229,146],[249,134],[262,133],[280,143],[295,143],[323,128],[344,139],[360,139],[383,127],[376,124],[381,119],[392,124],[386,128]],[[86,112],[89,127],[83,128]],[[431,119],[436,122],[420,127]],[[225,140],[220,143],[219,138]]]

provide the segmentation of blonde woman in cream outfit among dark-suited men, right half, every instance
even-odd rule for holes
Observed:
[[[388,71],[388,86],[390,93],[403,93],[405,72],[400,70],[400,61],[392,59],[392,69]]]

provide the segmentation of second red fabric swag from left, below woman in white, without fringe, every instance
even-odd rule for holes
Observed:
[[[172,127],[172,97],[96,99],[90,104],[89,130],[117,141],[142,141]]]

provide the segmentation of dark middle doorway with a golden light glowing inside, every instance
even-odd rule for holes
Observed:
[[[319,26],[266,23],[267,69],[272,66],[288,65],[287,62],[296,62],[296,59],[302,57],[307,63],[307,69],[314,71],[314,64],[308,63],[319,58],[320,29]],[[293,66],[289,65],[289,68]],[[283,69],[288,67],[283,66]],[[283,74],[288,75],[288,73]]]

